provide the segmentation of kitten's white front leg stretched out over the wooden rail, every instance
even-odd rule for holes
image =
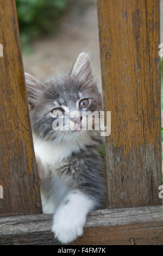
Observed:
[[[86,216],[96,203],[83,192],[74,190],[67,194],[54,215],[52,231],[62,243],[69,243],[83,235]]]

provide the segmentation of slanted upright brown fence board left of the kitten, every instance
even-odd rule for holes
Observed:
[[[0,1],[0,216],[39,214],[41,203],[15,1]]]

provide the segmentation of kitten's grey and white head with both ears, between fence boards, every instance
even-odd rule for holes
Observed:
[[[60,141],[80,136],[92,120],[82,114],[102,110],[101,93],[86,53],[80,53],[68,75],[44,83],[25,75],[32,128],[39,137]]]

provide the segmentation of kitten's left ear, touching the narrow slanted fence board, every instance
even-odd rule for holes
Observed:
[[[36,106],[38,101],[42,100],[42,90],[44,88],[44,85],[39,80],[34,78],[34,76],[28,73],[24,73],[24,75],[26,78],[29,107],[30,109],[32,109]]]

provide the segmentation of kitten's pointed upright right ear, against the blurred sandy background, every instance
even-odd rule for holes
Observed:
[[[85,52],[79,54],[79,57],[74,64],[71,75],[79,78],[84,78],[86,80],[90,80],[93,78],[91,62]]]

